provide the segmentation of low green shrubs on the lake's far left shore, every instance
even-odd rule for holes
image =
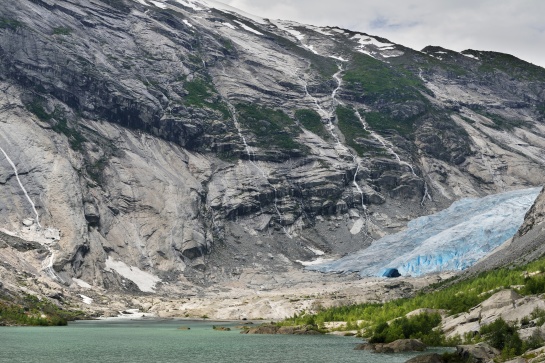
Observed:
[[[0,325],[66,325],[70,320],[83,317],[82,311],[63,310],[33,295],[26,295],[17,302],[0,300]]]

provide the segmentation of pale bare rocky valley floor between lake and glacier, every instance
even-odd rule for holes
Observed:
[[[271,276],[247,271],[237,281],[211,288],[192,289],[179,298],[169,296],[103,295],[87,290],[91,304],[81,308],[101,316],[138,309],[157,317],[207,317],[210,319],[280,320],[302,311],[363,302],[384,302],[407,297],[416,290],[451,276],[419,278],[360,278],[356,275],[321,274],[301,270]]]

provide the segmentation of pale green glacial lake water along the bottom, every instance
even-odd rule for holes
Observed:
[[[186,320],[78,321],[65,327],[0,327],[6,363],[402,363],[416,354],[353,350],[361,342],[331,335],[245,335],[234,323]],[[190,327],[179,330],[178,327]]]

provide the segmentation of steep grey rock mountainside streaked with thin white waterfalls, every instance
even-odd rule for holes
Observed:
[[[0,90],[18,288],[270,277],[545,180],[543,68],[210,0],[8,1]]]

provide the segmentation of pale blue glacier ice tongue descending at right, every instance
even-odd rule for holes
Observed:
[[[358,272],[361,276],[382,276],[387,268],[412,276],[463,270],[517,232],[540,190],[459,200],[439,213],[410,221],[406,230],[383,237],[364,250],[307,268]]]

